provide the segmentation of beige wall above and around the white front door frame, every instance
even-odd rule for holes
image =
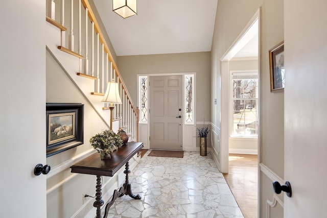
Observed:
[[[137,105],[138,74],[195,72],[197,121],[211,120],[210,52],[120,56],[118,67],[134,105]]]

